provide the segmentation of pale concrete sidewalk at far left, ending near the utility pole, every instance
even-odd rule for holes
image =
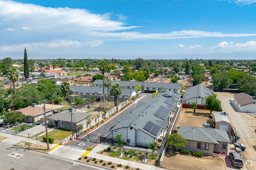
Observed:
[[[47,147],[46,143],[44,143],[42,141],[36,141],[35,139],[30,139],[30,138],[26,138],[26,137],[22,137],[22,136],[17,136],[17,135],[11,135],[11,134],[8,134],[8,133],[3,133],[3,132],[0,132],[0,136],[8,138],[8,139],[4,139],[2,141],[4,143],[16,144],[16,143],[19,143],[21,141],[24,141],[24,142],[29,142],[29,143],[38,144],[38,145]]]

